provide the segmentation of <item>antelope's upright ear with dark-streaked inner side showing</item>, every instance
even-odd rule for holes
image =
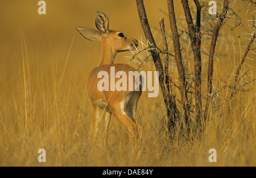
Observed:
[[[95,20],[96,27],[102,34],[106,34],[109,32],[109,19],[101,11],[97,11],[96,13],[96,20]]]

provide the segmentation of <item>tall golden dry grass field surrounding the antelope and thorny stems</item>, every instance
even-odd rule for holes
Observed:
[[[245,50],[243,45],[248,42],[247,39],[237,38],[241,29],[233,32],[221,30],[223,36],[218,40],[214,61],[213,84],[216,94],[204,132],[191,133],[189,138],[178,135],[172,140],[168,139],[162,96],[159,93],[157,98],[148,98],[144,92],[137,112],[139,154],[137,158],[133,158],[129,156],[129,134],[114,117],[109,127],[108,149],[105,151],[102,142],[101,124],[96,146],[91,145],[92,107],[85,85],[89,71],[97,65],[100,58],[100,43],[82,39],[75,31],[75,26],[93,27],[96,10],[105,10],[113,28],[118,30],[120,26],[120,30],[123,28],[127,35],[140,40],[143,32],[135,2],[127,2],[127,7],[123,7],[129,7],[133,15],[129,21],[124,17],[126,22],[120,24],[116,22],[120,17],[110,12],[109,7],[104,4],[106,1],[98,6],[94,5],[94,1],[74,1],[72,5],[68,1],[61,1],[64,5],[60,1],[51,2],[52,4],[46,1],[45,16],[36,14],[38,7],[32,5],[32,1],[15,2],[1,2],[6,7],[2,13],[7,13],[8,10],[11,12],[5,17],[1,15],[3,24],[0,28],[1,166],[256,165],[255,81],[240,87],[234,97],[230,97],[234,91],[236,66]],[[116,1],[109,3],[114,7]],[[240,10],[241,4],[237,3],[236,9]],[[164,3],[154,1],[147,2],[146,5],[148,14],[156,5],[160,6],[159,9],[166,8]],[[83,14],[84,9],[80,6],[85,9],[93,7],[88,12],[93,14],[89,18],[81,17],[86,13]],[[59,9],[56,10],[56,7]],[[180,8],[178,4],[177,8]],[[55,14],[52,13],[54,10]],[[249,12],[246,16],[246,10],[241,11],[241,16],[245,18],[243,22],[247,25],[246,20],[251,14]],[[116,13],[120,11],[119,9]],[[60,15],[65,12],[67,16]],[[163,14],[156,12],[154,16],[158,19]],[[87,20],[88,23],[83,23],[82,20]],[[158,21],[150,22],[152,26],[157,26]],[[129,27],[131,25],[132,28]],[[155,31],[155,38],[160,42],[158,31]],[[203,50],[206,52],[207,47],[204,44]],[[185,49],[189,56],[189,47]],[[255,52],[255,46],[252,50]],[[127,63],[123,56],[129,53],[118,54],[117,62]],[[250,53],[249,57],[255,60],[254,53]],[[190,71],[193,60],[185,58],[187,70]],[[203,61],[203,92],[206,92],[207,55],[203,56]],[[154,69],[151,64],[148,61],[142,69]],[[177,72],[173,60],[170,65],[170,73],[175,78]],[[245,80],[255,78],[255,67],[255,61],[246,61],[242,69],[250,71],[242,78],[240,85],[245,84]],[[179,97],[178,93],[176,95]],[[46,163],[38,162],[40,148],[46,150]],[[210,148],[217,151],[216,163],[208,161]]]

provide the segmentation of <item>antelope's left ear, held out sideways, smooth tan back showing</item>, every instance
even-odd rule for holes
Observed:
[[[92,28],[85,28],[85,27],[76,27],[76,30],[80,32],[84,38],[95,41],[101,40],[101,32],[94,30]]]

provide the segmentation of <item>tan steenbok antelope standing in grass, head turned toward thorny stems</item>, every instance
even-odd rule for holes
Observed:
[[[125,81],[127,83],[123,85],[128,86],[129,82],[135,84],[134,78],[132,78],[132,81],[128,80],[128,74],[129,72],[136,72],[136,70],[127,64],[113,64],[113,62],[118,52],[128,51],[130,49],[134,50],[138,46],[138,41],[126,36],[122,32],[109,30],[108,17],[101,11],[97,11],[95,23],[98,31],[92,28],[76,27],[77,31],[84,38],[88,40],[100,40],[102,43],[100,62],[96,68],[90,71],[86,85],[93,106],[93,143],[95,143],[98,123],[101,119],[100,109],[103,109],[106,111],[104,130],[105,147],[108,142],[110,117],[113,114],[129,131],[134,151],[137,153],[138,133],[135,124],[135,111],[142,90],[99,90],[98,83],[101,78],[98,78],[98,74],[104,71],[110,76],[110,68],[114,67],[116,76],[118,72],[126,73],[126,75],[119,73],[119,77],[121,75],[122,77],[126,77]],[[116,88],[115,84],[117,84],[116,81],[114,83],[109,81],[110,88]],[[139,82],[139,88],[141,88],[141,81]]]

